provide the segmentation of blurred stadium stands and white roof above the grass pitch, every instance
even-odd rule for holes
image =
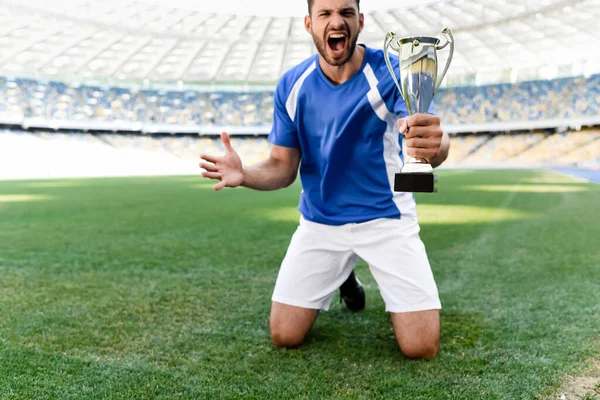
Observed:
[[[454,32],[435,98],[444,168],[598,169],[600,1],[362,3],[372,47]],[[303,0],[0,1],[0,179],[197,174],[223,130],[261,160],[278,78],[315,53],[304,14]]]

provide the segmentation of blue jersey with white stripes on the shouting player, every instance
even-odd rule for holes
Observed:
[[[398,58],[392,58],[398,73]],[[302,152],[298,209],[326,225],[416,218],[411,193],[394,193],[403,166],[396,121],[408,115],[383,51],[366,48],[360,70],[332,84],[318,55],[288,71],[275,92],[269,141]]]

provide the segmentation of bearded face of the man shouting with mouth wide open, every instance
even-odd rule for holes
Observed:
[[[314,0],[304,24],[321,57],[339,67],[354,54],[364,16],[358,12],[356,0]]]

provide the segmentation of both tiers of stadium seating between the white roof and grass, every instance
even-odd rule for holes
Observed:
[[[436,112],[445,124],[467,127],[454,136],[445,167],[598,168],[600,164],[598,129],[556,126],[476,134],[468,130],[502,127],[502,123],[514,121],[598,117],[600,75],[443,89],[436,94]],[[197,173],[198,155],[221,153],[216,134],[230,127],[240,129],[242,135],[234,137],[233,145],[243,162],[252,164],[270,150],[266,133],[272,115],[269,91],[142,90],[0,78],[0,124],[11,127],[0,131],[0,179]],[[28,128],[28,124],[38,129],[14,128]],[[60,124],[71,124],[74,129]],[[78,128],[80,125],[85,129]],[[177,127],[171,133],[181,127],[189,131],[187,135],[168,135],[150,129],[140,134],[143,125],[166,131]],[[53,131],[57,127],[61,130]],[[212,135],[198,135],[206,127],[214,127]],[[258,130],[252,131],[253,127]],[[44,165],[44,171],[36,165]]]

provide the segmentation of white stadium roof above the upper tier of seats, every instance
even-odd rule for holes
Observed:
[[[600,71],[600,0],[361,3],[373,47],[450,27],[455,80]],[[0,74],[272,83],[314,54],[304,14],[305,0],[0,0]]]

